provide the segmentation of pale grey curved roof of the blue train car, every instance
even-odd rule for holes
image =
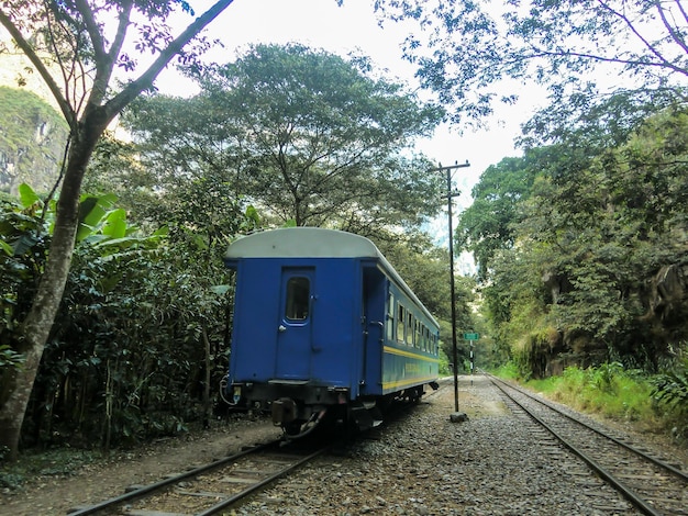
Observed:
[[[437,324],[411,288],[373,242],[353,233],[323,227],[284,227],[253,233],[230,244],[224,260],[241,258],[375,258],[428,317]]]

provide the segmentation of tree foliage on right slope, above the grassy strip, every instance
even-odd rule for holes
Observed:
[[[481,279],[490,335],[524,374],[546,374],[557,357],[653,372],[687,335],[688,306],[666,293],[680,287],[657,283],[686,262],[686,110],[675,103],[642,123],[630,113],[610,127],[606,106],[636,106],[621,97],[596,106],[603,120],[588,113],[553,135],[559,144],[506,161],[501,190],[499,168],[486,171],[475,189],[481,203],[462,226],[489,265]],[[519,177],[533,179],[530,189],[511,183]],[[510,215],[495,225],[504,202]],[[547,346],[537,345],[543,332]]]

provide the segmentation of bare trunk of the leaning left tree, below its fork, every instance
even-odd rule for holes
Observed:
[[[99,120],[102,119],[101,114],[99,110],[95,110],[90,112],[90,116],[85,115],[84,123],[78,127],[78,136],[73,139],[74,146],[69,152],[64,183],[57,201],[55,228],[45,271],[41,277],[33,305],[23,323],[16,347],[19,352],[25,355],[26,361],[21,370],[11,373],[4,385],[9,395],[0,406],[0,450],[8,451],[9,460],[16,460],[19,457],[24,414],[43,349],[67,283],[78,229],[81,180],[96,143],[107,126],[107,123],[103,124],[103,121]]]

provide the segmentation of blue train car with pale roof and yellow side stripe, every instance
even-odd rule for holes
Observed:
[[[293,227],[235,240],[228,390],[288,435],[326,415],[359,428],[378,407],[436,389],[440,328],[367,238]]]

